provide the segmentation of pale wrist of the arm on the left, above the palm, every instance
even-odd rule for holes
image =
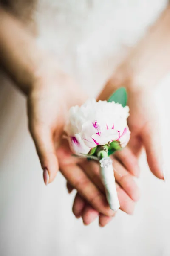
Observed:
[[[41,93],[45,97],[54,94],[60,95],[65,105],[82,105],[88,96],[82,92],[77,82],[63,72],[57,61],[50,56],[46,56],[44,61],[34,70],[33,82],[29,86],[27,96],[37,96]],[[73,93],[76,92],[76,93]],[[74,94],[74,96],[73,96]]]

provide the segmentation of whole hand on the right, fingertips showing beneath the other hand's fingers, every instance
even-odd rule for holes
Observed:
[[[131,199],[136,201],[139,199],[139,190],[136,185],[131,182],[132,177],[130,173],[136,177],[139,177],[139,167],[136,161],[136,157],[139,157],[142,146],[146,149],[147,161],[150,166],[153,174],[160,178],[164,179],[162,172],[162,163],[161,155],[159,152],[159,146],[161,144],[159,140],[159,126],[157,125],[157,116],[156,109],[154,108],[154,103],[151,98],[152,93],[146,89],[146,87],[136,87],[130,86],[126,82],[121,82],[113,76],[108,83],[106,84],[104,90],[99,95],[99,99],[105,100],[117,89],[117,85],[120,87],[127,85],[128,92],[128,102],[127,105],[130,107],[130,117],[128,118],[128,125],[131,131],[130,142],[128,146],[121,151],[118,151],[114,157],[116,157],[116,162],[113,163],[115,169],[116,182],[124,188],[124,192],[130,195]],[[117,162],[118,161],[118,162]],[[119,163],[119,166],[116,166],[116,163]],[[117,179],[117,172],[121,175],[122,170],[124,169],[124,175],[121,179]],[[126,169],[125,169],[126,168]],[[124,180],[124,186],[120,183],[121,180]],[[125,181],[126,180],[126,181]],[[118,188],[118,197],[120,201],[121,208],[125,212],[122,205],[127,203],[131,206],[126,198],[121,198],[119,194],[119,185]],[[71,191],[71,187],[68,184],[68,189]],[[132,193],[131,193],[132,192]],[[127,196],[126,194],[126,196]],[[125,196],[125,195],[124,195]],[[133,207],[131,208],[133,209]],[[74,199],[73,205],[74,215],[82,216],[85,224],[90,224],[94,219],[99,215],[99,224],[104,227],[111,217],[108,217],[103,214],[99,214],[93,207],[87,205],[87,202],[77,194]]]

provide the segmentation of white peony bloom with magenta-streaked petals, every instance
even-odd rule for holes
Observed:
[[[96,145],[119,141],[122,147],[130,139],[127,126],[129,107],[115,102],[90,99],[81,107],[71,107],[66,132],[76,154],[88,154]]]

